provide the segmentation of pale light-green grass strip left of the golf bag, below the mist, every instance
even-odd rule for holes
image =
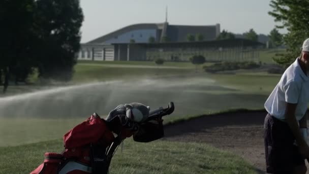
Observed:
[[[0,147],[57,139],[84,120],[0,119]]]

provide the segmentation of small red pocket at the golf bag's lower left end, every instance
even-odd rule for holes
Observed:
[[[56,174],[58,173],[58,168],[60,163],[63,161],[63,155],[57,153],[45,153],[44,163],[39,165],[30,174]]]

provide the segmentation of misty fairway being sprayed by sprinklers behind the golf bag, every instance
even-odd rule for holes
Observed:
[[[174,66],[178,64],[186,63]],[[280,75],[265,73],[195,73],[192,68],[160,69],[161,74],[155,75],[156,68],[78,64],[74,79],[82,83],[97,82],[0,98],[0,138],[3,139],[0,146],[60,137],[91,113],[106,117],[118,104],[130,102],[141,102],[155,109],[173,101],[176,110],[165,118],[167,122],[230,109],[261,109],[280,79]],[[11,130],[13,135],[9,133]],[[20,138],[14,138],[17,135]]]

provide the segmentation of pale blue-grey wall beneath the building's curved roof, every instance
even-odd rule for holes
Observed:
[[[147,43],[150,37],[158,39],[157,35],[158,33],[156,29],[133,30],[109,39],[104,43],[130,43],[131,39],[135,40],[136,43]]]

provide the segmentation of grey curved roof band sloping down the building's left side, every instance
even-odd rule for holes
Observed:
[[[116,36],[119,36],[123,33],[127,33],[130,32],[132,30],[140,30],[140,29],[158,29],[160,27],[160,25],[162,25],[161,23],[156,24],[156,23],[139,23],[139,24],[133,24],[133,25],[129,25],[123,28],[120,28],[119,30],[116,30],[112,33],[109,33],[107,35],[104,35],[100,38],[94,39],[92,41],[89,41],[87,43],[103,43],[106,40],[112,39]]]

